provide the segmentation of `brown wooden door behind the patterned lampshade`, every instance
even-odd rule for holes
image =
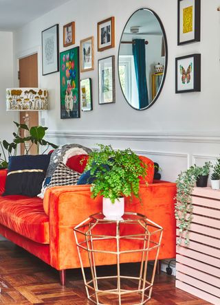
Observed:
[[[19,87],[38,87],[38,60],[37,54],[19,59]],[[21,111],[20,124],[24,124],[25,114],[29,115],[29,127],[39,125],[38,111]],[[23,137],[23,132],[21,133]],[[36,146],[30,149],[32,155],[36,155]],[[21,155],[24,155],[24,146],[21,145]]]

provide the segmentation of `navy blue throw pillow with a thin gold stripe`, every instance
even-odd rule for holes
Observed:
[[[49,162],[50,155],[9,157],[5,192],[2,196],[34,197],[39,194]]]

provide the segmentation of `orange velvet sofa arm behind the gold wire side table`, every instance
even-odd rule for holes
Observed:
[[[125,199],[125,211],[145,214],[164,227],[159,259],[175,257],[175,183],[140,185],[138,199]],[[102,198],[91,199],[90,185],[62,186],[48,189],[44,205],[49,206],[50,264],[58,269],[80,267],[73,228],[89,215],[102,211]]]

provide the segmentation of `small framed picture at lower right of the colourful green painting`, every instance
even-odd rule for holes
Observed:
[[[81,105],[83,111],[92,110],[92,91],[91,91],[91,78],[85,78],[80,82],[81,90]]]

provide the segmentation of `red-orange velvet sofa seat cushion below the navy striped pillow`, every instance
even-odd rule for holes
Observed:
[[[35,242],[49,243],[49,218],[43,201],[21,195],[0,196],[0,223]]]

